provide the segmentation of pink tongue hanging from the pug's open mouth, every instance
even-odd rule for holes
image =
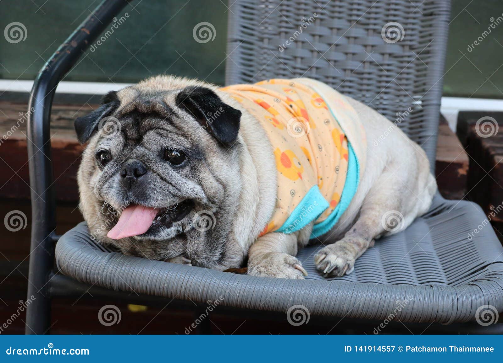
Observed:
[[[159,209],[132,205],[122,211],[119,221],[110,229],[107,237],[120,239],[145,233],[152,225],[152,221]]]

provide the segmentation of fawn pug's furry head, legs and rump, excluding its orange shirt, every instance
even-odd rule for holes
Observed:
[[[344,213],[316,237],[324,247],[313,258],[327,277],[351,273],[376,238],[428,211],[437,190],[420,146],[374,109],[346,100],[363,125],[366,160]],[[267,231],[279,198],[279,159],[263,120],[225,89],[161,75],[108,93],[74,126],[87,143],[77,175],[80,210],[99,243],[217,270],[247,261],[253,276],[307,275],[295,256],[315,221]],[[313,162],[306,158],[299,168]],[[297,174],[292,178],[305,179]],[[390,211],[401,219],[394,229],[383,223]]]

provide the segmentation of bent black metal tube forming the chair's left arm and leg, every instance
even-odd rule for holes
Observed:
[[[126,5],[127,0],[104,0],[44,64],[33,84],[27,122],[32,202],[28,298],[33,303],[26,312],[27,334],[46,333],[51,320],[49,278],[54,267],[56,229],[50,142],[54,93],[59,81]]]

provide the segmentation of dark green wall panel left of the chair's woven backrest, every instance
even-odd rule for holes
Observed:
[[[0,30],[11,22],[21,22],[28,33],[25,41],[16,44],[0,37],[0,78],[33,79],[44,64],[42,58],[49,58],[100,1],[50,0],[42,6],[45,0],[34,0],[41,10],[31,0],[0,1]],[[65,80],[134,82],[165,72],[223,82],[224,3],[143,0],[131,4],[137,6],[126,7],[129,18],[124,18],[96,51],[88,51],[89,57],[83,57]],[[214,25],[213,41],[200,44],[194,40],[193,28],[201,22]]]

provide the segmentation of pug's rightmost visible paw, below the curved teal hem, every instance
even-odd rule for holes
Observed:
[[[350,241],[339,241],[319,250],[314,256],[318,271],[325,277],[351,274],[355,267],[355,249]]]

